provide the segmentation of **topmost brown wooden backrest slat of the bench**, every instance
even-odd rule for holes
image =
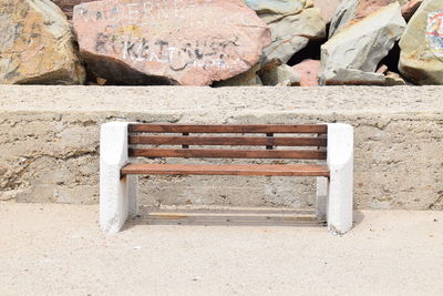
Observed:
[[[130,124],[131,133],[327,133],[326,124]]]

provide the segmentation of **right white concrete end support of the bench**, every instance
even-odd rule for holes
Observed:
[[[352,228],[353,213],[353,129],[349,124],[328,124],[328,228],[344,234]]]

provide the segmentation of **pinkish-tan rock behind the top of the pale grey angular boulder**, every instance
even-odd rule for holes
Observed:
[[[379,9],[395,2],[400,2],[402,6],[408,6],[409,0],[342,0],[331,20],[329,38],[348,25],[351,25],[377,12]],[[412,2],[415,1],[412,0]]]

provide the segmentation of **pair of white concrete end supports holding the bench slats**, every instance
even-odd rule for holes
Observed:
[[[102,124],[100,133],[100,226],[117,233],[127,217],[137,216],[136,175],[123,175],[128,161],[128,126],[132,122]],[[332,234],[352,227],[353,212],[353,129],[329,123],[327,165],[329,177],[317,177],[317,217],[327,220]],[[228,157],[227,157],[228,159]]]

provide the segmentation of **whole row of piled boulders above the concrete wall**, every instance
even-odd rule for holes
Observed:
[[[85,72],[100,85],[443,84],[443,0],[0,0],[0,83]]]

